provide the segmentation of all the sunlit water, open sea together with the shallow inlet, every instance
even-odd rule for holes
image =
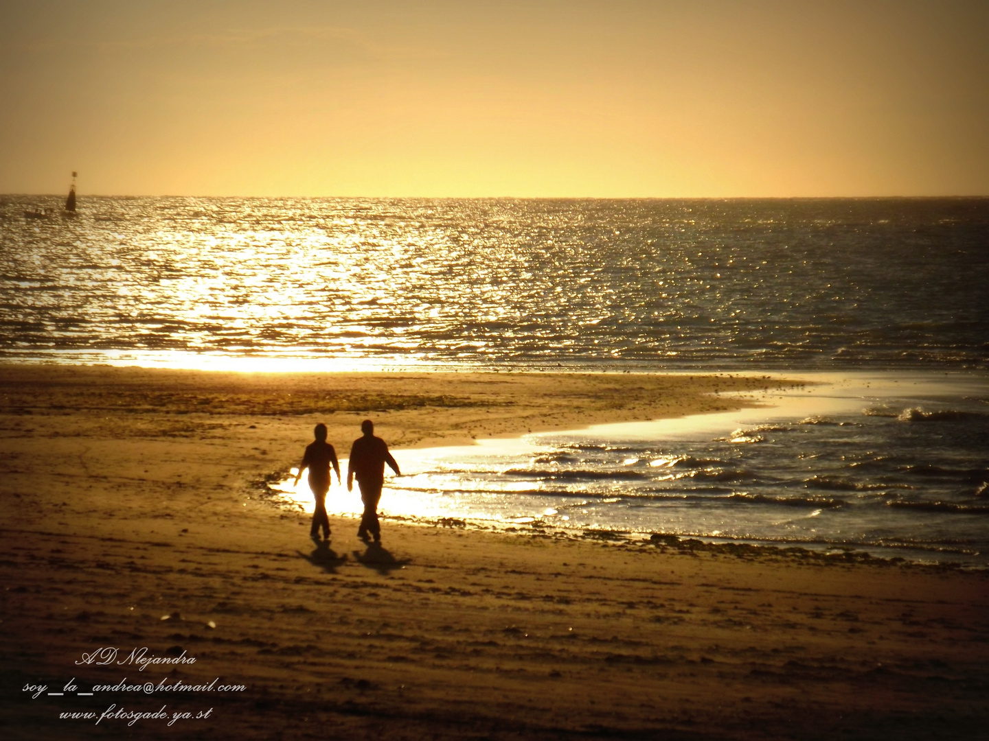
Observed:
[[[822,381],[402,452],[392,516],[989,564],[989,199],[60,204],[0,197],[0,360]]]

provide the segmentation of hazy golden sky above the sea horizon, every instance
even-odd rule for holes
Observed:
[[[989,195],[989,2],[0,0],[0,193]]]

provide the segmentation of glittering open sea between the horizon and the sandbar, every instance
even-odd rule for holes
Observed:
[[[985,367],[989,200],[0,205],[0,353],[216,367]],[[232,366],[236,367],[236,366]],[[246,367],[246,366],[242,366]]]

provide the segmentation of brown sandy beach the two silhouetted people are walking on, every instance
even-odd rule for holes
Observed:
[[[715,390],[782,383],[0,366],[0,735],[977,737],[981,573],[390,522],[368,547],[353,520],[317,546],[259,496],[318,421],[338,450],[367,416],[393,448],[451,445],[720,411],[741,402]],[[142,647],[196,661],[117,663]],[[219,680],[78,695],[125,678]],[[112,704],[190,717],[59,718]]]

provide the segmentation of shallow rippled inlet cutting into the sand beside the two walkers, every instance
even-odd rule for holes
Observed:
[[[939,484],[931,476],[921,480],[911,472],[917,467],[913,461],[928,457],[896,446],[903,445],[903,435],[909,442],[937,432],[926,426],[923,413],[913,423],[923,427],[908,430],[904,425],[912,418],[898,417],[901,409],[948,397],[989,398],[983,375],[800,377],[814,384],[749,394],[753,406],[730,412],[393,451],[405,475],[386,478],[380,511],[427,525],[628,536],[660,532],[877,547],[886,553],[901,541],[946,552],[938,534],[947,528],[953,537],[967,538],[948,550],[978,550],[981,531],[961,533],[954,524],[973,515],[955,515],[951,507],[977,515],[981,505],[964,497],[952,505],[950,491],[932,489]],[[883,413],[876,416],[875,410]],[[911,464],[901,465],[897,454]],[[941,470],[935,463],[928,467]],[[971,467],[964,461],[938,464],[947,465],[943,475],[953,475],[953,467],[961,466],[962,473]],[[346,461],[341,465],[345,468]],[[271,486],[272,493],[312,513],[309,486],[304,480],[294,486],[294,473]],[[974,491],[975,485],[969,488]],[[353,492],[330,488],[328,513],[357,517],[361,509],[356,487]]]

